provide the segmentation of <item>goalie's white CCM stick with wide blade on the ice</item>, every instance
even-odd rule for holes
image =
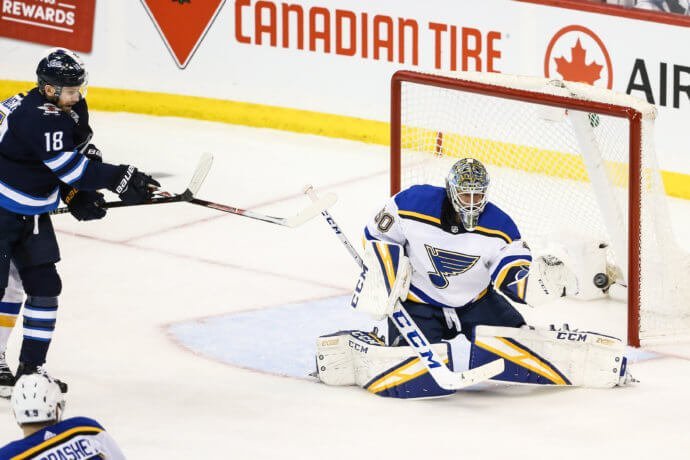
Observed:
[[[304,190],[304,193],[312,201],[318,200],[316,192],[314,192],[314,188],[311,185]],[[366,271],[367,268],[364,265],[362,257],[357,253],[357,250],[352,246],[347,236],[340,230],[330,213],[324,210],[321,212],[321,215],[326,219],[333,232],[347,248],[353,259],[355,259],[357,265],[359,265],[363,271]],[[429,374],[431,374],[438,386],[445,390],[459,390],[475,385],[491,377],[495,377],[505,369],[505,361],[500,358],[464,372],[453,372],[443,364],[441,357],[438,356],[431,347],[424,333],[422,333],[419,326],[417,326],[410,314],[405,310],[400,300],[396,301],[393,312],[388,316],[391,322],[398,328],[400,334],[405,337],[407,343],[410,344],[410,347],[417,353],[419,360],[429,370]]]

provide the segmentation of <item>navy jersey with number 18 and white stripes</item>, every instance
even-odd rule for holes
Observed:
[[[113,186],[121,168],[90,161],[77,149],[89,134],[84,100],[65,112],[34,88],[0,102],[0,206],[42,214],[58,206],[61,185]]]

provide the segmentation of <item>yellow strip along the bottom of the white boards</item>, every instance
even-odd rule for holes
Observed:
[[[22,91],[28,91],[34,85],[34,83],[28,81],[0,80],[0,100],[4,100]],[[302,134],[315,134],[378,145],[389,145],[390,142],[389,125],[387,122],[311,112],[308,110],[289,109],[285,107],[274,107],[198,96],[99,87],[89,88],[88,100],[89,108],[92,110],[192,118],[196,120],[216,121],[257,128],[280,129]],[[411,128],[409,131],[414,132],[415,129]],[[420,129],[419,131],[418,134],[420,136],[427,135],[425,134],[426,131],[429,131],[428,135],[436,135],[435,132],[431,132],[430,130]],[[444,143],[446,145],[451,144],[448,142],[451,139],[458,141],[456,144],[458,147],[456,152],[451,151],[448,153],[450,153],[451,156],[453,156],[453,154],[457,155],[462,153],[462,146],[467,143],[467,140],[463,140],[463,136],[448,133],[444,139]],[[551,160],[539,162],[540,166],[537,171],[533,169],[534,166],[530,166],[532,162],[525,161],[526,155],[535,153],[531,152],[529,147],[483,139],[473,139],[473,142],[475,147],[477,142],[479,142],[494,148],[500,147],[501,150],[511,152],[511,155],[506,155],[504,157],[510,159],[510,164],[500,164],[498,166],[507,166],[530,172],[540,172],[556,177],[562,174],[557,171],[568,170],[572,171],[570,174],[574,174],[573,177],[566,177],[568,179],[583,180],[583,178],[586,177],[582,167],[578,164],[580,160],[571,158],[573,157],[572,155],[547,150],[536,152],[539,156]],[[430,143],[430,145],[431,144],[433,143]],[[403,148],[404,147],[405,145],[403,145]],[[489,158],[479,159],[485,160],[488,163],[494,163]],[[573,166],[575,167],[555,168],[555,166],[562,165],[564,162],[574,162]],[[547,168],[546,170],[543,169],[545,166]],[[550,168],[552,166],[554,167],[553,169]],[[620,166],[622,167],[623,165]],[[690,199],[690,175],[671,171],[661,171],[661,176],[668,195]]]

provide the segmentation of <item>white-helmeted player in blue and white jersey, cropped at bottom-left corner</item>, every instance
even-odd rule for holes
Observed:
[[[46,375],[20,377],[11,404],[24,439],[0,448],[1,459],[125,458],[97,421],[87,417],[62,420],[64,395],[60,386]]]

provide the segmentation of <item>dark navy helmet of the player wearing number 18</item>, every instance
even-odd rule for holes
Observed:
[[[36,68],[38,88],[43,92],[45,85],[56,88],[56,96],[62,92],[62,88],[80,87],[82,96],[86,95],[88,72],[81,58],[65,48],[51,48],[41,59]]]

